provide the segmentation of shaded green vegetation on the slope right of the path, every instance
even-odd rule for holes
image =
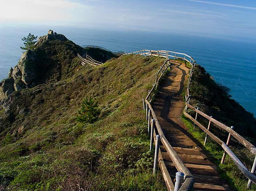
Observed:
[[[228,94],[228,88],[216,83],[212,77],[205,72],[205,69],[200,65],[194,67],[194,72],[192,75],[192,83],[190,86],[191,101],[190,104],[194,107],[199,107],[201,111],[209,116],[213,116],[218,121],[228,125],[234,126],[235,131],[240,135],[243,135],[247,140],[255,145],[255,122],[253,114],[246,111],[238,102],[231,99]],[[186,88],[185,88],[186,89]],[[188,109],[189,115],[195,117],[195,112]],[[239,191],[245,191],[248,179],[242,174],[240,169],[235,165],[233,160],[227,155],[224,164],[220,164],[223,156],[222,147],[216,143],[211,138],[208,138],[206,146],[203,146],[205,133],[199,128],[194,128],[194,123],[182,116],[183,121],[189,128],[189,132],[200,141],[200,147],[207,150],[215,160],[218,166],[221,177],[226,179],[230,185]],[[207,127],[209,121],[203,117],[198,116],[198,121]],[[210,131],[218,136],[222,141],[226,142],[228,133],[224,130],[211,124]],[[231,139],[229,144],[230,149],[235,153],[235,155],[242,161],[242,163],[251,169],[255,155],[250,153],[244,146],[239,144],[234,138]],[[252,185],[250,190],[256,190],[255,184]]]

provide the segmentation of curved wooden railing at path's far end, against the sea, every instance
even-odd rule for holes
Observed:
[[[189,62],[190,65],[192,65],[192,63],[195,62],[195,60],[191,56],[188,56],[187,54],[180,53],[180,52],[167,51],[167,50],[138,50],[136,52],[130,52],[123,55],[130,55],[130,54],[139,54],[142,56],[150,56],[150,57],[157,56],[158,58],[163,57],[166,59],[181,59]]]

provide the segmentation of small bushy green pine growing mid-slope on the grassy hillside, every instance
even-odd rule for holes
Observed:
[[[90,96],[89,100],[86,96],[82,103],[81,110],[78,110],[77,121],[94,122],[100,115],[100,109],[98,108],[98,101],[94,103],[94,100]]]

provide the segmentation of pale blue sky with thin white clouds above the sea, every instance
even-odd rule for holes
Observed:
[[[68,25],[256,39],[255,0],[0,0],[0,27]]]

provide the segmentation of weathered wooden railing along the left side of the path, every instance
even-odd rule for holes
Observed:
[[[158,120],[157,120],[157,117],[154,113],[154,110],[153,110],[152,106],[150,105],[150,103],[152,102],[152,100],[155,96],[154,90],[155,90],[155,88],[157,88],[159,80],[161,79],[164,72],[168,69],[169,66],[170,66],[170,63],[169,63],[169,59],[168,59],[164,62],[164,64],[161,66],[160,70],[156,74],[156,81],[153,85],[153,88],[149,91],[147,97],[145,98],[145,102],[147,103],[147,113],[148,113],[149,109],[151,110],[151,112],[150,112],[151,114],[148,115],[148,120],[149,121],[150,121],[150,119],[155,120],[155,126],[156,126],[158,134],[160,135],[160,139],[161,139],[161,142],[162,142],[164,148],[166,149],[168,155],[170,156],[170,158],[173,161],[173,164],[175,165],[177,170],[180,171],[180,172],[183,172],[184,175],[185,175],[185,181],[182,184],[182,186],[180,187],[179,191],[192,191],[193,190],[193,185],[194,185],[194,178],[193,178],[192,174],[190,173],[190,171],[188,170],[188,168],[186,167],[186,165],[180,159],[178,154],[172,148],[171,144],[165,138],[165,135],[162,131],[162,128],[161,128]],[[161,73],[161,75],[160,75],[160,73]],[[159,152],[158,162],[159,162],[159,166],[160,166],[161,172],[163,174],[164,181],[165,181],[165,184],[167,186],[168,191],[173,191],[174,190],[174,185],[172,183],[169,172],[167,171],[167,168],[166,168],[166,166],[164,164],[164,161],[162,159],[161,152]]]

